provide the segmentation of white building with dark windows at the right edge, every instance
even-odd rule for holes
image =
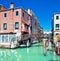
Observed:
[[[57,41],[57,35],[60,34],[60,13],[55,13],[52,20],[52,32],[53,32],[53,41]]]

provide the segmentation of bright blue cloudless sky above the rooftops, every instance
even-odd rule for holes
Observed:
[[[31,8],[44,30],[52,29],[52,16],[60,12],[60,0],[0,0],[6,8],[10,8],[11,2],[14,2],[14,7]]]

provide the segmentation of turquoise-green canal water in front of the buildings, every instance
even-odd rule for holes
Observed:
[[[0,61],[60,61],[60,56],[54,54],[54,50],[47,51],[43,54],[41,43],[33,44],[29,48],[1,49]]]

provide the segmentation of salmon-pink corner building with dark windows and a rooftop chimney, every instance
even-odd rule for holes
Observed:
[[[3,8],[3,9],[2,9]],[[14,8],[14,4],[10,4],[10,9],[3,6],[0,7],[0,40],[5,42],[10,41],[10,36],[29,33],[29,16],[22,8]]]

